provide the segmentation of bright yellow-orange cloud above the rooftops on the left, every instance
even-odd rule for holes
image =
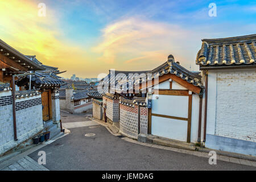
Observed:
[[[0,39],[24,55],[36,55],[43,64],[68,70],[60,76],[95,75],[97,64],[88,67],[93,57],[63,36],[55,11],[46,4],[46,16],[40,17],[38,10],[35,1],[0,1]]]

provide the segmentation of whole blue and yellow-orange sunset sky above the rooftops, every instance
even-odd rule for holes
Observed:
[[[256,1],[1,0],[0,21],[0,39],[62,77],[151,70],[170,54],[198,71],[201,39],[256,34]]]

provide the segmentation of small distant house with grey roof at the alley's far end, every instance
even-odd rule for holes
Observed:
[[[73,90],[72,86],[60,90],[60,109],[70,113],[92,113],[92,90]]]

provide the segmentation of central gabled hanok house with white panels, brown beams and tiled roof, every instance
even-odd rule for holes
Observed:
[[[148,118],[144,123],[147,124],[144,126],[148,129],[147,134],[183,142],[200,142],[204,93],[200,72],[188,71],[170,55],[166,63],[147,72],[146,76],[137,79],[135,85],[139,85],[140,90],[147,89],[148,113],[145,114]]]

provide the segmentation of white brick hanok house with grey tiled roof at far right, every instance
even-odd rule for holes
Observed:
[[[256,155],[256,34],[203,39],[205,147]]]

